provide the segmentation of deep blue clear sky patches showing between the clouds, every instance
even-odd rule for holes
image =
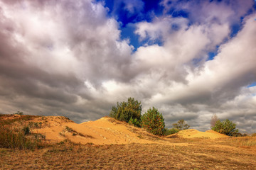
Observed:
[[[171,16],[173,18],[188,18],[190,17],[190,12],[188,10],[183,10],[182,8],[176,8],[176,6],[172,6],[168,11],[165,11],[164,5],[161,4],[161,1],[143,1],[143,0],[134,0],[134,1],[102,1],[97,0],[97,2],[101,2],[105,7],[109,9],[108,14],[110,17],[114,17],[120,23],[121,38],[129,39],[130,44],[134,46],[134,50],[137,50],[139,46],[144,45],[146,40],[140,41],[139,36],[134,34],[135,26],[134,24],[146,21],[151,22],[155,17],[163,17],[163,16]],[[169,1],[168,4],[176,3],[177,6],[180,4],[186,3],[186,1]],[[200,1],[196,1],[196,3],[200,3]],[[209,1],[209,3],[223,3],[225,1]],[[228,4],[228,3],[227,3]],[[235,3],[234,3],[235,4]],[[127,7],[129,6],[129,8]],[[233,38],[239,30],[242,28],[243,18],[247,15],[250,15],[255,10],[255,5],[252,8],[248,8],[247,13],[240,16],[240,20],[232,23],[230,25],[230,38]],[[193,24],[193,21],[190,21],[190,24]],[[178,26],[174,26],[174,29],[178,29]],[[151,42],[150,44],[161,45],[161,40],[156,40]],[[209,59],[213,58],[215,51],[218,50],[218,47],[209,54]]]

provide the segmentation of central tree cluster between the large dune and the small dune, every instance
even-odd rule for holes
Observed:
[[[139,128],[159,136],[171,135],[180,130],[186,130],[190,126],[185,120],[178,120],[174,123],[174,128],[165,128],[164,117],[155,107],[149,108],[142,115],[142,103],[134,98],[128,98],[127,101],[117,102],[117,106],[112,106],[110,117],[129,123]]]

